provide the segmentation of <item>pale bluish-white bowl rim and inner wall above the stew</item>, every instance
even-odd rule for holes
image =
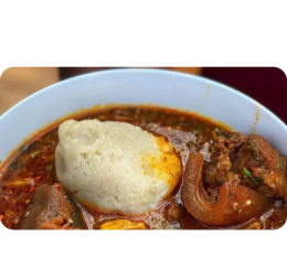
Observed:
[[[264,136],[287,154],[287,127],[247,96],[198,76],[155,69],[119,69],[78,76],[28,97],[0,117],[0,165],[23,139],[59,118],[108,104],[155,104]]]

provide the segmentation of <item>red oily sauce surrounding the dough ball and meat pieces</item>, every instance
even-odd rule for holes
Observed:
[[[219,139],[232,136],[230,129],[205,118],[158,107],[97,109],[77,119],[128,122],[151,133],[163,136],[173,144],[183,170],[190,152],[201,153],[204,157],[204,164],[209,164]],[[0,169],[0,223],[6,229],[21,228],[26,209],[40,185],[59,183],[54,170],[57,143],[57,128],[47,129],[22,146]],[[73,200],[72,194],[66,195],[82,212],[86,223],[86,227],[82,229],[99,230],[105,223],[117,219],[142,222],[147,230],[278,230],[287,223],[286,203],[280,197],[276,200],[270,197],[273,207],[266,208],[261,216],[255,216],[243,224],[227,227],[204,225],[185,208],[181,189],[182,182],[157,209],[145,216],[132,217],[121,216],[118,213],[104,213],[89,205],[79,204]],[[234,215],[238,213],[234,211]]]

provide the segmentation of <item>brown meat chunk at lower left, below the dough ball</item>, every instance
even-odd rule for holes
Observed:
[[[60,184],[36,189],[21,230],[75,230],[72,207]]]

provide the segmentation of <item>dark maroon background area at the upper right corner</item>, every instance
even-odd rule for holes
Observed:
[[[279,66],[204,66],[202,75],[245,93],[287,123],[287,75]]]

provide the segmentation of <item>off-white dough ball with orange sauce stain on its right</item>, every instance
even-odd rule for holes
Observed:
[[[60,126],[56,175],[81,202],[141,215],[178,185],[181,161],[162,137],[123,122],[68,120]]]

